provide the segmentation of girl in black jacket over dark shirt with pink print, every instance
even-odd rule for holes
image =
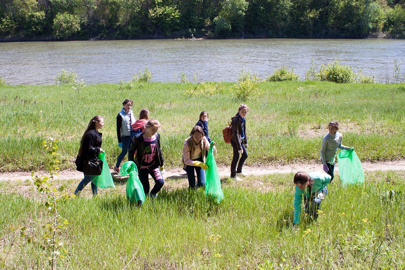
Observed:
[[[133,161],[138,168],[139,180],[143,185],[145,195],[149,193],[149,174],[155,180],[155,186],[149,196],[157,197],[157,193],[163,187],[162,176],[163,156],[160,149],[160,135],[157,133],[160,123],[157,119],[150,119],[145,125],[145,131],[136,134],[129,145],[128,161]]]

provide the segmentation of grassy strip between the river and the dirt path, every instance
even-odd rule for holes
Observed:
[[[167,167],[181,166],[184,139],[201,111],[209,113],[209,132],[217,142],[217,163],[230,164],[231,147],[222,128],[241,101],[230,88],[213,96],[188,97],[195,84],[141,83],[119,90],[117,84],[90,85],[79,92],[69,85],[0,86],[1,172],[32,170],[45,164],[41,141],[60,140],[61,168],[74,168],[80,138],[94,115],[104,117],[103,145],[112,167],[119,154],[115,117],[125,98],[133,110],[149,108],[162,124],[162,151]],[[194,88],[194,87],[193,87]],[[247,100],[247,164],[315,161],[327,123],[337,120],[343,144],[355,147],[362,161],[405,158],[405,86],[403,84],[335,84],[327,82],[262,83],[264,94]]]

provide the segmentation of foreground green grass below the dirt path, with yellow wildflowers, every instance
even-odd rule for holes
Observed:
[[[364,185],[348,187],[336,176],[318,221],[302,217],[295,233],[292,177],[248,178],[271,184],[270,192],[224,182],[219,205],[203,190],[162,189],[136,207],[120,184],[94,199],[75,198],[61,207],[70,223],[61,268],[122,269],[134,256],[127,269],[403,269],[405,171],[370,172]],[[10,193],[10,185],[0,183],[0,265],[42,268],[42,251],[9,227],[43,220],[43,208],[19,191]]]

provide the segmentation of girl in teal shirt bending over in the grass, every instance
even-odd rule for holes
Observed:
[[[325,198],[330,181],[330,175],[325,172],[297,172],[294,175],[294,226],[300,224],[301,206],[304,196],[305,213],[310,219],[316,220],[322,200]]]

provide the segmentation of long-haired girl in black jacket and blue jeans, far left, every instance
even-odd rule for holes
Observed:
[[[83,133],[80,141],[80,148],[79,153],[77,154],[76,158],[76,170],[79,172],[83,172],[84,161],[89,159],[97,159],[98,153],[102,152],[101,149],[101,136],[102,133],[98,132],[98,130],[102,129],[104,125],[104,119],[100,115],[96,115],[90,120],[89,125],[87,125],[87,129]],[[83,173],[84,174],[84,173]],[[93,176],[85,175],[83,180],[79,183],[75,190],[75,194],[81,191],[90,181],[92,181]],[[97,195],[97,186],[92,183],[92,192],[93,196]]]

